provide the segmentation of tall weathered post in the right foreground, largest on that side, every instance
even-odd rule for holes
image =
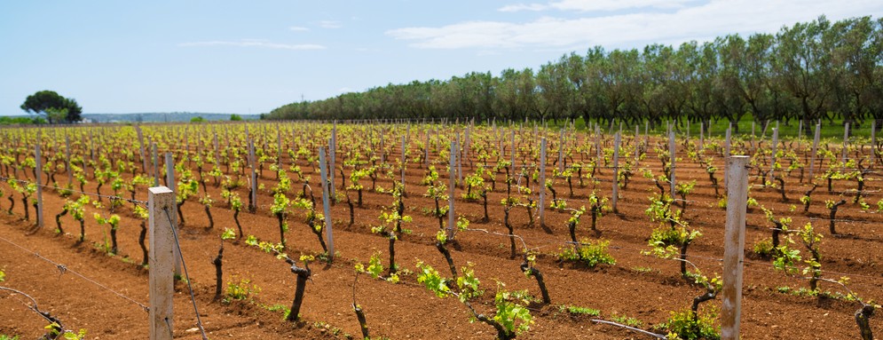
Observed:
[[[742,312],[742,267],[745,257],[745,210],[748,201],[748,156],[729,158],[727,223],[724,231],[721,340],[737,340]]]

